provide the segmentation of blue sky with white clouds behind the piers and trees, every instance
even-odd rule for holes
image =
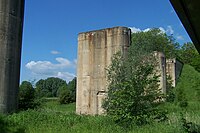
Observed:
[[[160,28],[191,41],[169,0],[26,0],[21,81],[76,76],[78,33],[115,27]]]

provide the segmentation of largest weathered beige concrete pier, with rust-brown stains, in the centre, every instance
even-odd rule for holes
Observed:
[[[130,46],[131,31],[114,27],[80,33],[78,36],[76,113],[102,114],[106,96],[105,68],[118,51],[125,53]]]

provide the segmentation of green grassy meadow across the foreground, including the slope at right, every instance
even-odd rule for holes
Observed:
[[[181,113],[190,122],[200,125],[200,73],[185,65],[176,89],[181,88],[188,100],[186,108],[165,103],[168,120],[141,127],[124,129],[109,116],[75,114],[75,104],[60,105],[56,100],[44,102],[39,109],[1,115],[0,133],[184,133]]]

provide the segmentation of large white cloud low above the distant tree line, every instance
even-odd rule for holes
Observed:
[[[50,61],[30,61],[26,68],[31,71],[31,75],[36,78],[59,77],[67,82],[75,77],[75,74],[69,73],[68,70],[76,69],[76,62],[66,58],[56,58],[57,63]]]

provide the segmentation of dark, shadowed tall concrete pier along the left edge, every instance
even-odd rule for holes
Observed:
[[[24,0],[0,0],[0,113],[17,108]]]

